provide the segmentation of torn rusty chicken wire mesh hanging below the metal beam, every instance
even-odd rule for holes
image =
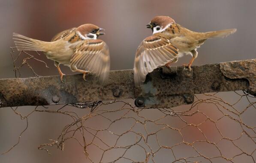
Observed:
[[[137,108],[131,99],[36,106],[27,114],[12,107],[26,126],[18,142],[2,154],[18,145],[37,112],[69,119],[62,121],[58,137],[38,145],[48,154],[53,148],[69,148],[65,144],[75,140],[84,160],[92,163],[255,163],[255,97],[245,91],[194,97],[192,105],[175,108]]]

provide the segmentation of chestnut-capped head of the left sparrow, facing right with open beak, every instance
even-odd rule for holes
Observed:
[[[93,24],[83,24],[77,27],[76,32],[78,33],[79,37],[83,40],[96,40],[100,35],[105,35],[105,33],[100,32],[104,30],[105,29],[99,28],[98,26],[95,26]]]

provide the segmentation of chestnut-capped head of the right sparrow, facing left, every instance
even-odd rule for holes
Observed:
[[[147,25],[147,28],[151,28],[153,34],[165,31],[175,21],[169,16],[156,16]]]

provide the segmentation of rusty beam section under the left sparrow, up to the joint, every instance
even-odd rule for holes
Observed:
[[[55,105],[134,98],[133,70],[111,71],[109,82],[99,85],[95,76],[81,74],[36,78],[0,79],[1,107]]]

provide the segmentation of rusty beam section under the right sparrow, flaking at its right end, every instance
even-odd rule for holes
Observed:
[[[135,104],[175,107],[193,103],[194,94],[246,89],[255,96],[255,67],[256,59],[193,66],[193,73],[184,67],[177,67],[177,73],[174,68],[163,67],[149,74],[145,83],[135,89]]]

